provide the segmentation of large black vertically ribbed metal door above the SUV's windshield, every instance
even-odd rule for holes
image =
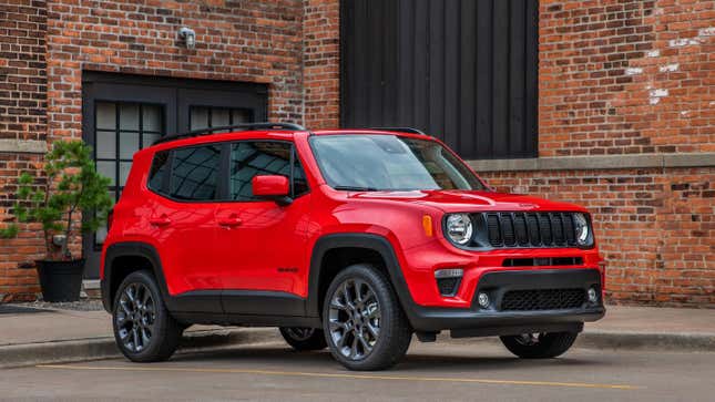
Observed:
[[[538,0],[343,0],[345,127],[415,126],[466,158],[537,154]]]

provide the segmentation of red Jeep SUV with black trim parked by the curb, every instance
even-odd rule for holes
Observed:
[[[134,155],[101,269],[132,361],[167,359],[193,323],[279,327],[353,370],[442,330],[553,358],[604,315],[582,207],[497,193],[413,128],[228,128]]]

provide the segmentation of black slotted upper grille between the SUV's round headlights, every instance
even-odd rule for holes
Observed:
[[[575,246],[574,213],[481,213],[492,247]]]

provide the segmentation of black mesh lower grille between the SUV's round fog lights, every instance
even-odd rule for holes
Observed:
[[[502,311],[575,309],[585,302],[583,289],[510,290],[501,299]]]

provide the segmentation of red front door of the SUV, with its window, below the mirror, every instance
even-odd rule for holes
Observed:
[[[257,175],[292,181],[293,203],[280,206],[256,198]],[[224,225],[217,239],[223,258],[224,310],[227,313],[303,315],[299,299],[307,278],[306,221],[309,192],[293,144],[241,141],[231,144],[228,200],[218,203]],[[255,298],[255,299],[254,299]],[[264,303],[255,302],[264,300]]]

